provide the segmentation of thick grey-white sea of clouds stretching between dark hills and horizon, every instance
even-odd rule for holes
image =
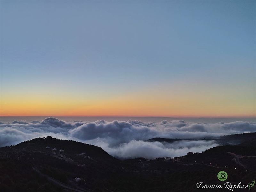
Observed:
[[[145,123],[139,120],[94,122],[66,122],[54,117],[42,121],[0,122],[0,147],[51,135],[58,139],[76,140],[99,146],[117,158],[183,156],[186,153],[202,152],[217,146],[214,140],[221,135],[256,132],[255,122],[189,123],[181,120]],[[145,142],[162,138],[184,139],[173,143]],[[202,139],[202,140],[186,140]]]

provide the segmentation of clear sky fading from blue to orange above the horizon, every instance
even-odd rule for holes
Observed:
[[[255,116],[255,1],[1,1],[1,116]]]

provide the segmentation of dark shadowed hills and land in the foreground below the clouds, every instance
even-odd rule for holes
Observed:
[[[228,173],[227,182],[231,184],[248,184],[256,179],[256,133],[214,139],[226,145],[175,158],[119,160],[93,145],[51,137],[36,138],[0,148],[0,189],[8,192],[184,192],[199,190],[198,182],[223,184],[217,179],[219,171]],[[147,141],[179,140],[152,138]],[[47,146],[57,149],[56,157],[46,153]],[[58,155],[61,149],[63,158]]]

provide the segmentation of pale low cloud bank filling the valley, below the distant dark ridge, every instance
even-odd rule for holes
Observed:
[[[173,143],[145,142],[142,140],[131,140],[118,146],[110,147],[107,142],[96,139],[89,141],[90,144],[97,144],[108,151],[114,157],[121,159],[144,157],[154,159],[158,157],[184,156],[188,152],[202,152],[206,149],[218,146],[214,140],[189,141],[181,140]]]

